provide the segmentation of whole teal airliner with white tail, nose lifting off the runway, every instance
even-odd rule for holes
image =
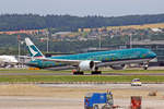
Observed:
[[[63,55],[46,58],[28,37],[25,38],[25,44],[32,57],[32,60],[26,63],[28,66],[39,69],[77,69],[73,74],[83,74],[83,71],[91,71],[91,74],[101,74],[102,72],[98,71],[99,66],[110,66],[115,70],[121,70],[129,63],[142,63],[147,70],[149,61],[156,58],[153,51],[144,48]]]

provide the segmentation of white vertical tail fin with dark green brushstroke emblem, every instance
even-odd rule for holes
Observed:
[[[39,51],[39,49],[32,43],[32,40],[27,37],[25,38],[25,44],[31,53],[32,58],[44,58],[45,56]]]

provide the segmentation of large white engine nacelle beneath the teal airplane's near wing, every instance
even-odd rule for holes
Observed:
[[[82,61],[79,64],[79,69],[81,71],[91,71],[94,70],[94,68],[95,68],[94,61]]]

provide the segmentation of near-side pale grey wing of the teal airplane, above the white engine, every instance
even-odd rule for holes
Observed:
[[[92,60],[67,60],[67,59],[50,59],[50,58],[40,58],[43,61],[54,61],[54,62],[60,62],[71,65],[78,65],[82,61],[92,61]],[[94,63],[101,63],[102,61],[94,61]]]

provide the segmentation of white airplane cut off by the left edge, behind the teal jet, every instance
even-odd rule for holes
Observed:
[[[0,66],[2,68],[14,66],[19,61],[15,59],[14,56],[0,56]]]

